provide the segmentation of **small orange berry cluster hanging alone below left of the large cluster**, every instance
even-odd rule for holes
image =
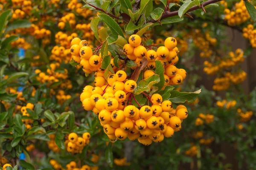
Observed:
[[[83,133],[82,137],[78,136],[76,133],[70,133],[68,140],[65,141],[65,146],[68,152],[71,153],[81,153],[84,146],[90,142],[90,133]]]

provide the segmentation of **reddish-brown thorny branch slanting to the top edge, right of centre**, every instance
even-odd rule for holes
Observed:
[[[202,3],[201,6],[207,6],[207,5],[209,5],[209,4],[217,3],[217,2],[219,2],[219,1],[221,1],[221,0],[207,0],[206,2]],[[187,12],[195,11],[195,10],[201,8],[201,6],[193,6],[193,7],[191,7]],[[166,12],[162,15],[162,17],[160,18],[160,20],[163,20],[163,19],[168,18],[168,17],[177,16],[177,15],[178,15],[178,11],[173,11],[173,12],[166,11]],[[157,22],[157,21],[152,19],[152,20],[150,20],[150,21],[148,21],[148,22],[149,22],[149,23],[155,23],[155,22]]]

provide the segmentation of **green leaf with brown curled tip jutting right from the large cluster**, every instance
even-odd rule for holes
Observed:
[[[198,94],[201,93],[201,89],[198,91],[195,91],[193,93],[188,92],[179,92],[179,91],[171,91],[169,100],[173,103],[184,103],[186,101],[195,102],[195,99],[198,98]]]

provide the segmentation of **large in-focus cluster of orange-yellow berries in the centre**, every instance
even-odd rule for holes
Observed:
[[[165,46],[147,46],[148,50],[141,45],[141,42],[140,36],[131,35],[129,43],[123,46],[123,52],[128,60],[133,60],[137,64],[132,69],[143,65],[143,57],[148,62],[143,73],[144,79],[155,74],[156,60],[160,61],[165,68],[164,86],[178,85],[186,78],[186,71],[175,67],[178,61],[175,38],[167,38],[164,41]],[[138,103],[140,109],[137,108],[131,104],[132,99],[137,102],[134,94],[137,82],[129,79],[132,75],[127,75],[125,71],[117,68],[112,58],[110,64],[114,73],[109,72],[105,76],[105,70],[101,68],[101,54],[93,55],[101,45],[93,52],[85,40],[75,38],[71,44],[70,51],[73,59],[80,61],[84,72],[89,74],[96,71],[95,87],[85,86],[80,95],[83,108],[99,116],[104,132],[112,142],[128,137],[130,140],[138,139],[140,143],[149,145],[153,141],[161,142],[164,137],[171,137],[175,131],[180,130],[182,120],[188,116],[185,106],[180,105],[175,110],[172,102],[163,101],[160,94],[149,96],[143,92],[143,95],[151,102],[151,106],[140,106]],[[157,48],[157,51],[152,48]],[[111,56],[110,53],[108,54]]]

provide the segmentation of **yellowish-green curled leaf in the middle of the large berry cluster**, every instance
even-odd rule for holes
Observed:
[[[160,82],[160,77],[158,75],[152,75],[152,76],[150,76],[146,79],[143,79],[138,83],[134,94],[138,95],[138,94],[141,94],[144,91],[149,93],[150,90],[151,90],[152,85],[154,85],[158,82]]]

